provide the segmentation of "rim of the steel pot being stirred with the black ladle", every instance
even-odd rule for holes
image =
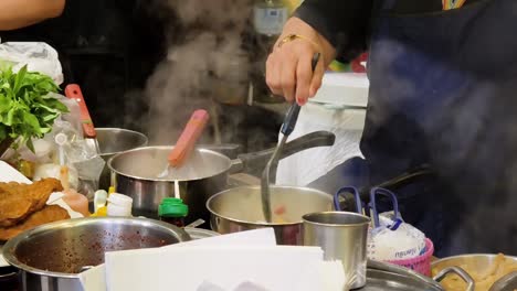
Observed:
[[[296,190],[305,190],[305,191],[310,191],[310,192],[314,192],[314,193],[317,193],[318,195],[325,195],[325,196],[330,196],[330,194],[328,193],[325,193],[323,191],[319,191],[319,190],[316,190],[316,188],[310,188],[310,187],[300,187],[300,186],[282,186],[282,185],[271,185],[270,187],[274,187],[274,188],[296,188]],[[246,224],[246,225],[252,225],[252,226],[255,226],[255,227],[274,227],[274,226],[292,226],[292,225],[300,225],[303,224],[303,219],[300,219],[299,222],[296,222],[296,223],[256,223],[256,222],[246,222],[246,220],[242,220],[242,219],[236,219],[236,218],[230,218],[228,216],[224,216],[224,215],[221,215],[221,214],[218,214],[215,211],[212,209],[212,207],[210,206],[211,202],[213,200],[215,200],[217,197],[221,196],[221,195],[224,195],[225,193],[229,193],[229,192],[232,192],[232,191],[236,191],[238,188],[250,188],[250,190],[256,190],[256,188],[261,188],[260,185],[251,185],[251,186],[239,186],[239,187],[233,187],[233,188],[228,188],[228,190],[224,190],[222,192],[219,192],[214,195],[212,195],[208,201],[207,201],[207,209],[212,214],[212,215],[215,215],[218,217],[221,217],[223,219],[228,219],[232,223],[238,223],[238,224]]]

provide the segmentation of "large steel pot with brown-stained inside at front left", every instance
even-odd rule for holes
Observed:
[[[104,252],[189,240],[172,225],[145,218],[77,218],[43,225],[9,240],[3,256],[20,269],[22,290],[82,290],[77,273]]]

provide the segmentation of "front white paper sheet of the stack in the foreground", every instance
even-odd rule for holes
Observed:
[[[323,250],[295,246],[194,246],[145,254],[106,254],[109,291],[198,290],[212,282],[233,291],[245,281],[267,291],[321,290]]]

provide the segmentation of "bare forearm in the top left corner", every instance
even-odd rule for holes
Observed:
[[[24,28],[63,12],[65,0],[0,0],[0,31]]]

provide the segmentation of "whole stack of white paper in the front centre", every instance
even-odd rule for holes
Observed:
[[[256,237],[262,237],[262,246]],[[276,246],[271,244],[274,240],[273,229],[265,228],[155,249],[107,252],[104,277],[97,267],[80,278],[85,291],[342,290],[340,261],[324,261],[319,247]]]

